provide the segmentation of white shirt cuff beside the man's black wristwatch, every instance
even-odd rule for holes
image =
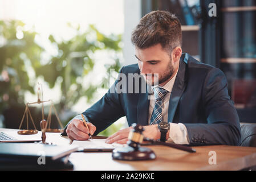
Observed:
[[[189,144],[188,130],[182,123],[170,123],[168,142],[176,144]]]

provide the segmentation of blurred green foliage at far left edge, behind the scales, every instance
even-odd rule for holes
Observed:
[[[43,48],[35,42],[36,32],[25,31],[19,20],[0,21],[0,114],[8,107],[24,104],[24,94],[34,93],[28,72],[40,65]]]

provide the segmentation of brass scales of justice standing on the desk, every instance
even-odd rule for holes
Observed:
[[[41,84],[38,84],[38,100],[36,102],[27,102],[26,104],[26,108],[25,108],[25,112],[23,114],[23,117],[22,117],[22,120],[21,120],[21,124],[19,125],[19,130],[18,131],[18,134],[19,135],[32,135],[32,134],[37,134],[38,133],[38,130],[36,129],[35,127],[35,123],[34,123],[34,119],[32,118],[32,115],[31,115],[31,112],[29,110],[29,105],[34,105],[34,104],[42,104],[42,121],[40,122],[40,127],[41,127],[41,131],[42,131],[42,143],[45,143],[45,140],[46,140],[46,132],[50,132],[50,133],[62,133],[63,132],[63,125],[62,125],[62,122],[60,122],[60,119],[59,119],[59,115],[55,109],[55,106],[53,104],[53,102],[51,100],[47,100],[47,101],[43,101],[43,91],[42,91],[42,85]],[[41,100],[41,96],[42,96],[42,100]],[[44,107],[43,107],[43,104],[45,102],[51,102],[51,106],[50,106],[50,109],[49,109],[49,113],[48,113],[48,117],[47,117],[47,120],[44,119]],[[52,113],[52,109],[54,110],[54,113],[56,115],[56,118],[59,122],[59,125],[60,127],[62,127],[62,129],[51,129],[51,113]],[[25,119],[25,116],[26,116],[26,121],[27,121],[27,129],[26,130],[21,130],[21,126],[22,126],[22,123]],[[34,129],[32,130],[29,130],[29,117],[31,119],[31,122],[34,126]]]

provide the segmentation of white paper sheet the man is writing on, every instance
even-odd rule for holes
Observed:
[[[112,151],[117,147],[124,147],[126,144],[105,143],[106,139],[92,139],[92,140],[74,140],[72,144],[75,144],[79,147],[79,150],[84,151]]]

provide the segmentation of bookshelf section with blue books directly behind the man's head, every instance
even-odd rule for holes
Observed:
[[[167,10],[176,14],[182,24],[182,51],[200,60],[200,0],[141,0],[142,14],[153,10]]]

